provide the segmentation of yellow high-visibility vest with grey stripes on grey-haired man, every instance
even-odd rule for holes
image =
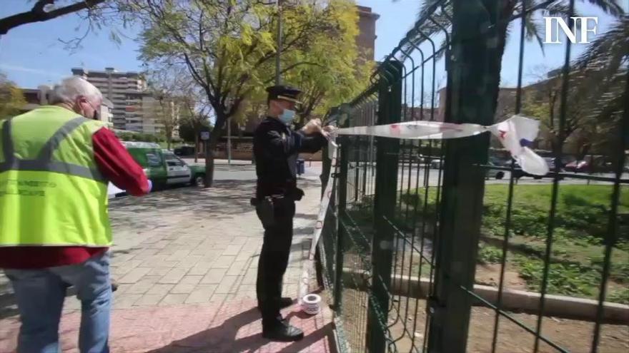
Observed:
[[[0,247],[112,245],[91,143],[103,126],[59,106],[0,120]]]

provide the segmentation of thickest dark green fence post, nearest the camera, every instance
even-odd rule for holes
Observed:
[[[445,121],[490,125],[500,78],[500,1],[453,0]],[[504,38],[502,38],[503,40]],[[490,136],[445,141],[435,287],[428,300],[428,352],[465,352]]]

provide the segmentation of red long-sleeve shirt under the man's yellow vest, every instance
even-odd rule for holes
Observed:
[[[107,128],[96,131],[91,138],[94,159],[107,180],[134,196],[149,193],[144,170],[129,155],[116,135]],[[107,251],[107,247],[0,247],[0,268],[32,269],[71,265]]]

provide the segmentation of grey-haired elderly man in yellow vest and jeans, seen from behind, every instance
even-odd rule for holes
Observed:
[[[0,122],[0,268],[19,308],[18,352],[59,352],[69,286],[81,300],[79,349],[109,352],[107,183],[131,195],[151,185],[98,121],[96,87],[66,78],[50,101]]]

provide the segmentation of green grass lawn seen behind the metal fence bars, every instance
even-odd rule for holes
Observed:
[[[550,242],[548,293],[598,299],[612,189],[611,185],[560,185]],[[429,219],[434,217],[436,193],[434,187],[427,193],[425,215]],[[507,193],[508,185],[485,186],[480,265],[500,263],[502,258]],[[406,205],[418,205],[418,214],[422,214],[425,198],[424,188],[402,194],[402,210]],[[551,198],[552,185],[514,188],[507,267],[517,270],[528,290],[539,291],[542,285]],[[611,252],[607,300],[629,304],[629,187],[620,190],[617,217],[618,240]],[[417,227],[421,221],[407,219],[398,224],[408,229],[413,226],[410,222]]]

